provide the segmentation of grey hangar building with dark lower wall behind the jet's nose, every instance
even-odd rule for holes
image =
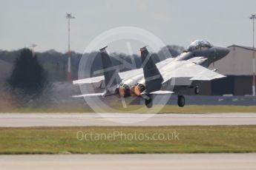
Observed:
[[[203,83],[202,95],[252,95],[252,47],[232,45],[228,48],[229,55],[209,67],[227,78]]]

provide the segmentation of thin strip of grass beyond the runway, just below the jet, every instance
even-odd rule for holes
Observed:
[[[153,108],[143,108],[141,105],[131,105],[127,108],[123,108],[121,105],[113,106],[116,111],[103,109],[104,112],[139,112],[139,113],[150,113],[150,112],[159,112],[159,113],[206,113],[206,112],[256,112],[256,106],[206,106],[206,105],[187,105],[184,107],[166,105],[160,106],[156,105]],[[140,109],[140,110],[138,110]],[[52,106],[46,108],[14,108],[14,109],[0,109],[0,112],[93,112],[89,107],[82,106]]]

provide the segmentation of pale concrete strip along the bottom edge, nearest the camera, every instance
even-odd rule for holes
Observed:
[[[1,170],[14,169],[255,169],[256,154],[0,155]]]

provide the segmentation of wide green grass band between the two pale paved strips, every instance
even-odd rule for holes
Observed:
[[[88,140],[78,140],[78,131],[92,133],[93,137],[122,132],[122,138],[116,135],[108,140],[104,137],[97,140],[88,136]],[[137,139],[139,135],[167,137],[176,132],[179,140],[131,139],[135,132]],[[125,135],[129,134],[129,140],[125,140]],[[256,152],[255,141],[256,126],[0,128],[0,154]]]

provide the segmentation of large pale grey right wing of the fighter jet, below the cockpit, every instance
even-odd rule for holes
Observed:
[[[164,72],[161,72],[163,83],[169,81],[171,78],[189,78],[191,81],[211,81],[216,78],[226,77],[225,75],[220,75],[217,72],[197,65],[197,62],[194,61],[173,61],[172,65],[174,67],[165,68]],[[175,65],[178,67],[175,67]]]

